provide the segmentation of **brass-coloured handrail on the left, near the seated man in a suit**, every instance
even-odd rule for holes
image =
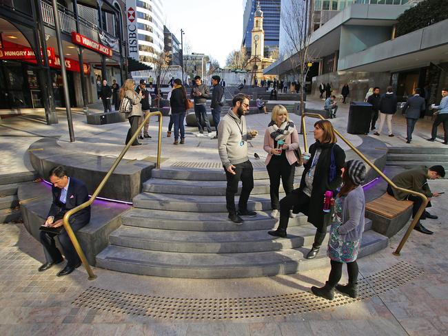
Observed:
[[[150,112],[149,114],[147,114],[147,116],[145,116],[145,119],[143,119],[143,123],[141,123],[139,125],[139,127],[137,127],[136,132],[134,133],[132,138],[130,138],[128,143],[125,145],[125,147],[121,151],[119,157],[116,158],[114,164],[109,169],[108,174],[106,174],[104,176],[103,180],[101,180],[99,186],[96,188],[96,190],[92,194],[92,197],[90,197],[90,199],[87,202],[84,202],[83,204],[80,204],[78,207],[75,207],[75,208],[70,209],[69,211],[67,211],[65,213],[64,217],[63,217],[64,229],[65,229],[65,231],[67,231],[68,237],[72,241],[74,249],[77,251],[77,253],[79,255],[79,259],[81,259],[81,262],[83,263],[83,265],[85,267],[85,271],[87,271],[87,273],[89,275],[89,280],[94,280],[94,278],[96,278],[96,275],[94,275],[92,269],[90,268],[90,265],[89,265],[87,259],[85,258],[83,250],[81,249],[81,246],[79,245],[77,237],[76,237],[76,235],[74,235],[74,232],[72,230],[72,227],[70,227],[70,223],[68,222],[68,220],[70,220],[70,216],[74,215],[74,213],[77,213],[78,211],[80,211],[82,209],[85,209],[86,207],[89,207],[90,204],[93,203],[93,201],[95,200],[96,196],[98,196],[98,194],[100,193],[101,189],[103,189],[103,187],[106,184],[106,182],[108,182],[110,176],[112,176],[112,173],[116,169],[116,166],[119,165],[119,163],[121,162],[121,159],[123,159],[123,156],[125,156],[125,154],[128,151],[129,147],[134,142],[136,137],[140,134],[141,129],[143,128],[145,123],[150,120],[151,116],[159,116],[159,143],[157,144],[156,168],[160,168],[160,156],[161,156],[161,147],[162,147],[162,118],[163,118],[163,116],[162,116],[162,113],[160,111],[157,111],[157,112]]]

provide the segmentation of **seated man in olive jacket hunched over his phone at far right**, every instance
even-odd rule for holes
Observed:
[[[438,178],[444,177],[445,169],[442,166],[436,165],[429,168],[423,166],[403,171],[403,173],[400,173],[392,178],[392,182],[394,182],[397,187],[425,194],[425,196],[427,196],[429,200],[427,207],[431,207],[431,198],[438,197],[442,193],[432,193],[431,189],[429,189],[427,180],[437,180]],[[405,193],[403,191],[394,190],[390,185],[387,186],[387,193],[389,193],[389,195],[391,196],[394,196],[396,200],[411,200],[412,202],[414,202],[414,206],[412,207],[412,218],[416,216],[416,213],[420,208],[420,205],[422,204],[422,199],[420,197]],[[424,220],[426,218],[437,219],[438,217],[431,215],[431,213],[425,210],[422,213],[422,216],[420,216],[420,218],[418,219],[418,222],[414,229],[420,231],[421,233],[431,235],[434,232],[429,231],[420,223],[420,220]]]

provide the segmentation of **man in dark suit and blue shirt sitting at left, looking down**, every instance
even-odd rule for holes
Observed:
[[[53,185],[53,202],[50,211],[48,211],[47,220],[45,220],[44,225],[54,228],[61,227],[63,226],[62,219],[65,212],[89,200],[87,187],[85,187],[84,183],[80,180],[69,178],[65,168],[62,166],[57,166],[51,169],[48,176],[50,176],[50,182],[52,182]],[[74,213],[74,215],[70,217],[70,226],[74,232],[81,229],[81,227],[84,227],[88,222],[90,222],[90,206]],[[61,252],[56,247],[54,241],[56,235],[57,233],[41,231],[40,240],[43,245],[46,262],[39,267],[39,272],[50,269],[54,264],[63,262]],[[65,259],[67,259],[67,265],[62,271],[57,273],[57,276],[60,277],[72,273],[74,269],[81,266],[81,260],[65,230],[58,235],[58,238]]]

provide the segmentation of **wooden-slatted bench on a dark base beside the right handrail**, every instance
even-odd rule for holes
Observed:
[[[365,204],[365,214],[372,220],[372,227],[376,232],[391,238],[403,229],[411,217],[413,203],[409,200],[396,200],[394,196],[384,193]]]

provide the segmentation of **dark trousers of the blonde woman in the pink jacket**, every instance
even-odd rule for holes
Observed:
[[[282,180],[285,193],[289,194],[294,189],[295,167],[290,165],[286,156],[272,156],[267,165],[267,174],[269,174],[269,193],[271,194],[272,209],[280,209],[280,200],[278,200],[278,189],[280,188],[280,178]]]

